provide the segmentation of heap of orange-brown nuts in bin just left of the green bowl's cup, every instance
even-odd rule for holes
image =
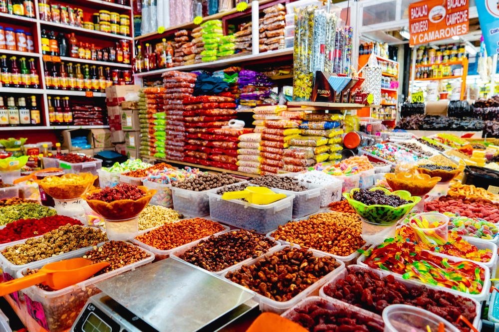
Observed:
[[[318,213],[279,226],[272,237],[337,256],[348,256],[365,244],[360,217],[353,213]]]

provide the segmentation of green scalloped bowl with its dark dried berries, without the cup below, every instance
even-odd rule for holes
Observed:
[[[390,192],[386,188],[352,189],[343,193],[353,209],[365,220],[377,224],[394,224],[421,200],[406,190]]]

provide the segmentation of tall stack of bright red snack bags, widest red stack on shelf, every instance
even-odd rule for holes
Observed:
[[[222,128],[237,117],[234,98],[186,97],[183,107],[187,132],[184,161],[236,170],[240,134]]]

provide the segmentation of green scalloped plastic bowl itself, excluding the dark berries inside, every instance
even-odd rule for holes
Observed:
[[[388,189],[376,187],[376,188],[371,188],[369,190],[371,191],[383,190],[388,195],[397,195],[400,198],[412,201],[412,203],[407,203],[397,207],[393,207],[390,205],[381,205],[381,204],[366,205],[362,202],[359,202],[358,200],[353,199],[353,193],[358,190],[360,189],[355,188],[352,189],[350,192],[344,192],[343,197],[345,197],[346,200],[348,200],[348,202],[353,207],[355,212],[357,212],[362,218],[364,218],[369,222],[374,222],[378,224],[396,223],[398,220],[405,217],[405,215],[412,210],[414,205],[416,205],[421,200],[421,197],[411,196],[411,193],[406,190],[397,190],[390,192],[390,190]]]

